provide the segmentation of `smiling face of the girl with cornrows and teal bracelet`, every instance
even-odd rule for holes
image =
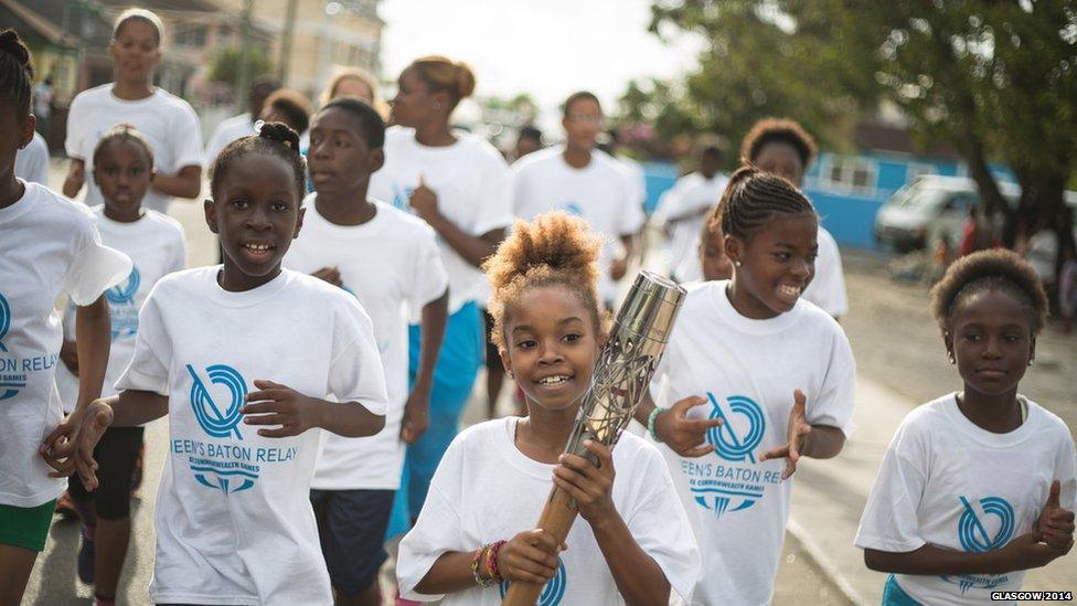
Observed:
[[[785,313],[815,276],[819,224],[814,213],[776,215],[748,238],[726,236],[734,269],[733,307],[751,319]]]

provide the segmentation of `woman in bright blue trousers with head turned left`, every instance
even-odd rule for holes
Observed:
[[[460,414],[482,365],[484,327],[479,301],[488,287],[479,272],[512,222],[509,168],[486,140],[454,130],[449,116],[474,89],[463,63],[418,59],[401,73],[393,121],[385,132],[385,166],[371,176],[370,195],[426,221],[438,236],[449,276],[449,321],[434,371],[430,423],[407,447],[404,481],[390,527],[406,530],[426,499],[441,455],[458,430]],[[419,327],[409,329],[409,382],[418,371]]]

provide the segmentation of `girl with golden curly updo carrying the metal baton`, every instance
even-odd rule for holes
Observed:
[[[401,542],[403,596],[494,605],[522,581],[544,585],[542,606],[668,604],[671,587],[691,587],[699,553],[654,447],[626,432],[612,454],[585,443],[597,466],[562,454],[606,334],[600,248],[583,220],[557,212],[516,223],[487,262],[493,340],[529,415],[452,442]],[[551,485],[583,518],[564,544],[534,528]]]

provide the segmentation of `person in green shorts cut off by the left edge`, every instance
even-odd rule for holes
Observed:
[[[41,437],[63,416],[54,381],[56,299],[77,306],[84,408],[105,379],[104,291],[131,270],[130,259],[102,245],[85,206],[15,177],[15,153],[34,134],[31,82],[29,51],[13,30],[0,32],[0,604],[22,600],[64,490],[65,466],[52,451],[38,456]]]

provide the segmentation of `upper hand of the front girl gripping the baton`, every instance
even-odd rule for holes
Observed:
[[[576,500],[579,514],[594,525],[617,515],[610,489],[614,487],[614,458],[606,446],[584,440],[584,448],[598,457],[598,466],[579,455],[562,455],[554,468],[554,483]]]

